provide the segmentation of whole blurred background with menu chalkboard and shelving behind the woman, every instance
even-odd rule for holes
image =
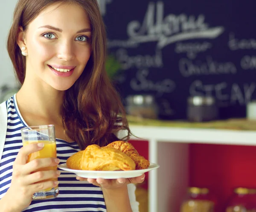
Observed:
[[[160,164],[137,185],[140,212],[256,212],[256,2],[98,2],[130,142]],[[16,3],[0,3],[1,102],[20,86],[6,50]]]

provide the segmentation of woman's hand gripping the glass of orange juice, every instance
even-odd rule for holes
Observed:
[[[41,158],[26,163],[30,153],[42,150],[44,144],[29,144],[20,148],[16,160],[13,164],[11,186],[4,196],[8,204],[15,211],[21,211],[31,204],[32,196],[35,192],[51,187],[56,187],[58,181],[49,180],[58,178],[59,171],[37,171],[43,167],[53,167],[59,163],[57,158]]]

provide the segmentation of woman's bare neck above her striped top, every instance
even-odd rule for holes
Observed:
[[[17,93],[19,108],[45,119],[59,119],[64,101],[64,91],[56,90],[47,83],[25,79]]]

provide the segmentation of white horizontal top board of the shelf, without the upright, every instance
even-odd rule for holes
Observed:
[[[218,130],[200,128],[130,126],[131,133],[141,139],[151,141],[256,145],[256,131]],[[138,139],[132,136],[131,139]]]

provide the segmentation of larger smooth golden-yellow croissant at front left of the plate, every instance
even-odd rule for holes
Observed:
[[[82,152],[82,153],[81,153]],[[134,161],[125,153],[92,144],[67,159],[67,167],[78,170],[135,170]]]

